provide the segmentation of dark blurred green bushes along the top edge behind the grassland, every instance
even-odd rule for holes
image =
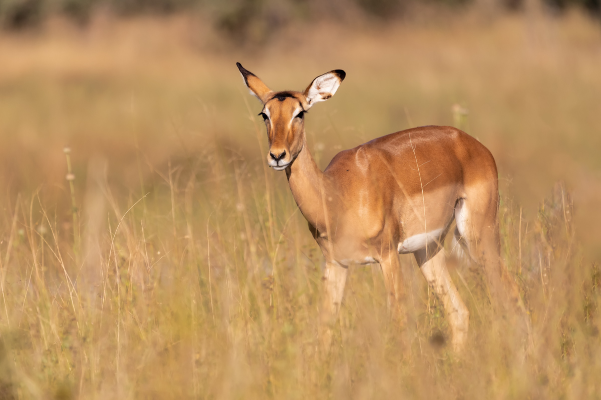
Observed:
[[[38,25],[54,15],[85,24],[98,10],[118,16],[185,11],[208,16],[217,28],[241,40],[253,30],[273,32],[285,23],[297,20],[340,20],[349,16],[352,19],[393,20],[410,16],[412,10],[423,7],[453,10],[485,5],[499,12],[523,11],[528,4],[537,4],[554,12],[576,7],[594,16],[601,14],[601,0],[0,0],[0,23],[6,29],[22,29]]]

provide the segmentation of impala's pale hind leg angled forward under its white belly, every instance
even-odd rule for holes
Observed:
[[[445,252],[437,243],[428,249],[418,250],[413,255],[429,287],[442,301],[453,335],[453,350],[459,353],[468,339],[469,310],[451,280]]]

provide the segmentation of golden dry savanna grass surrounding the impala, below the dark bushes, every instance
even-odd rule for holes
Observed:
[[[598,21],[299,23],[240,49],[200,17],[101,15],[2,32],[0,60],[1,398],[601,397]],[[307,115],[322,168],[417,125],[484,143],[531,343],[457,259],[471,331],[454,354],[403,255],[407,325],[389,317],[379,267],[356,266],[322,351],[323,257],[264,163],[237,61],[275,89],[346,71]]]

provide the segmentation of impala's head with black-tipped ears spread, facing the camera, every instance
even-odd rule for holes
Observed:
[[[332,97],[346,73],[334,70],[320,75],[304,92],[274,92],[239,62],[236,65],[251,94],[263,103],[259,115],[265,121],[269,140],[267,164],[275,170],[284,170],[305,145],[305,113],[318,101]]]

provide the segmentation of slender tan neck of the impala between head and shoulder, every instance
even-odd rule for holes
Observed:
[[[332,207],[324,207],[328,202],[329,182],[323,177],[322,170],[317,167],[313,156],[309,152],[307,140],[301,152],[293,163],[286,169],[286,176],[294,201],[299,206],[307,222],[317,228],[320,233],[325,233],[331,226]],[[326,215],[328,220],[326,221]]]

